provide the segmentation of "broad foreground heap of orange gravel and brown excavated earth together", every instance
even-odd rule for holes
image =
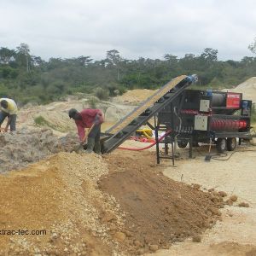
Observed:
[[[154,252],[211,228],[224,205],[216,193],[163,176],[153,153],[119,150],[60,152],[20,171],[5,170],[0,204],[0,255]],[[32,230],[46,234],[32,236]]]

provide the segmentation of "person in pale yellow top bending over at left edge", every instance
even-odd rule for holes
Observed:
[[[9,125],[10,131],[16,131],[18,108],[15,101],[9,98],[0,98],[0,108],[0,131],[2,131],[1,125],[6,117],[8,117],[8,121],[3,131],[7,132]]]

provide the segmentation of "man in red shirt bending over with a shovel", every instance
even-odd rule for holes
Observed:
[[[104,121],[102,111],[100,109],[85,108],[79,112],[77,109],[71,108],[68,115],[75,120],[81,144],[86,141],[84,128],[91,128],[87,138],[86,153],[90,154],[94,151],[96,154],[101,154],[100,135],[101,125]]]

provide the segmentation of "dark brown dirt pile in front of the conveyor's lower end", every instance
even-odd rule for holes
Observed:
[[[220,215],[223,200],[218,194],[163,176],[154,153],[114,153],[108,156],[108,166],[112,172],[101,179],[100,188],[126,212],[123,246],[132,254],[201,234]]]

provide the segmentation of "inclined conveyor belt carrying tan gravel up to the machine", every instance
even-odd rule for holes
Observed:
[[[166,104],[172,102],[193,81],[195,81],[195,76],[179,76],[157,90],[153,96],[148,97],[140,106],[106,131],[112,136],[105,141],[103,153],[109,153],[117,148],[140,126],[146,124],[155,113],[158,113]]]

